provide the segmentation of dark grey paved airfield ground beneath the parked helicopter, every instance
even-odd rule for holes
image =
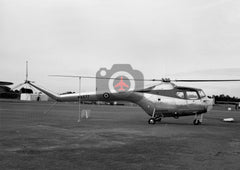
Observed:
[[[148,125],[136,107],[0,101],[0,169],[240,169],[240,112]],[[233,117],[235,123],[221,119]]]

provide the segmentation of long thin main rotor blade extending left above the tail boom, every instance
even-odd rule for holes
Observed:
[[[66,78],[86,78],[86,79],[114,79],[114,80],[121,80],[121,77],[94,77],[94,76],[75,76],[75,75],[49,75],[51,77],[66,77]],[[122,80],[134,80],[134,81],[163,81],[162,79],[129,79],[129,78],[122,78]]]

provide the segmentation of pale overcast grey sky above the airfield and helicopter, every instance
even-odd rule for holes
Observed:
[[[55,92],[103,67],[131,64],[145,78],[239,78],[240,1],[0,0],[0,80]],[[184,84],[240,97],[239,83]],[[83,80],[82,91],[94,91]]]

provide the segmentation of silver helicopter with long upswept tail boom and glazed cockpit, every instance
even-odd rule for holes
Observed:
[[[67,76],[68,77],[68,76]],[[72,76],[69,76],[72,77]],[[84,77],[80,78],[98,78]],[[120,80],[120,79],[119,79]],[[120,82],[123,81],[121,77]],[[131,91],[119,92],[94,92],[94,93],[74,93],[58,95],[49,90],[46,90],[39,85],[26,81],[29,85],[42,91],[52,99],[59,102],[70,101],[127,101],[140,106],[149,116],[149,124],[160,122],[163,118],[173,117],[178,119],[181,116],[194,116],[193,124],[200,125],[203,122],[203,114],[209,112],[213,108],[214,101],[206,96],[204,91],[199,88],[177,86],[173,82],[229,82],[240,81],[239,79],[232,80],[170,80],[152,79],[152,81],[160,81],[159,84],[148,88],[136,89]]]

